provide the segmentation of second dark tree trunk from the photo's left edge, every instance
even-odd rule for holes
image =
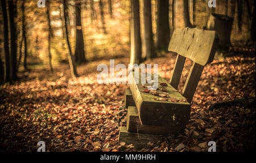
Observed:
[[[17,78],[16,65],[17,65],[17,35],[16,35],[16,3],[13,0],[9,1],[9,22],[10,22],[10,37],[11,37],[11,80]]]

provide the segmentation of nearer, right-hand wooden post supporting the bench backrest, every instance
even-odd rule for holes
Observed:
[[[189,71],[188,78],[182,91],[182,95],[187,98],[188,102],[191,102],[193,99],[197,84],[200,80],[203,70],[204,66],[193,62],[193,65]]]

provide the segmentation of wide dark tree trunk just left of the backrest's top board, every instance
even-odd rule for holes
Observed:
[[[158,21],[156,24],[156,49],[167,50],[170,41],[168,0],[158,0]]]

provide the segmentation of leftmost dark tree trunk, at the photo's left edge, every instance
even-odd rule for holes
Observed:
[[[6,11],[6,1],[1,1],[2,12],[3,12],[3,44],[5,47],[5,82],[10,81],[10,53],[9,53],[9,35],[8,35],[8,19]]]

